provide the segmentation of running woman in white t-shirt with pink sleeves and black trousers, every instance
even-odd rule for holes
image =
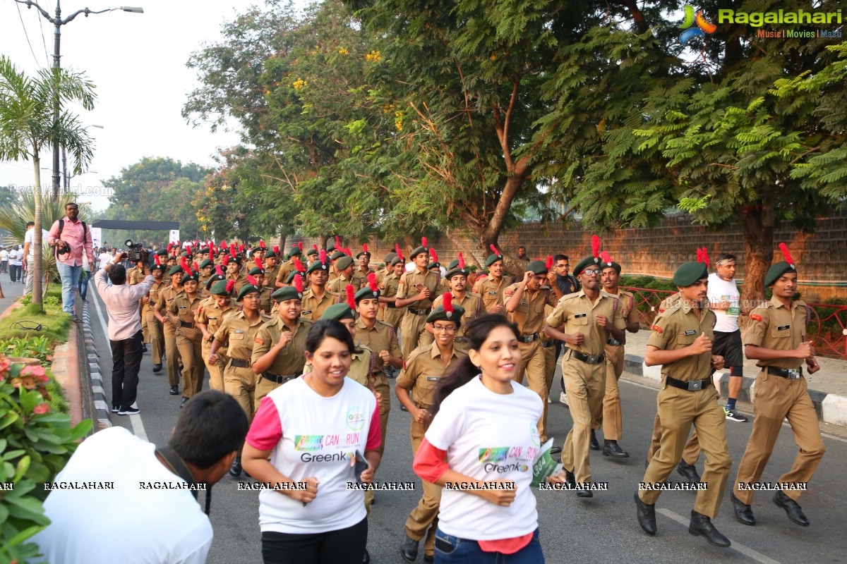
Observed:
[[[306,338],[312,372],[270,392],[253,418],[241,464],[281,485],[259,493],[265,564],[368,560],[364,493],[348,484],[359,479],[357,453],[368,462],[361,481],[374,479],[381,433],[374,394],[346,377],[356,350],[339,321],[319,320]]]

